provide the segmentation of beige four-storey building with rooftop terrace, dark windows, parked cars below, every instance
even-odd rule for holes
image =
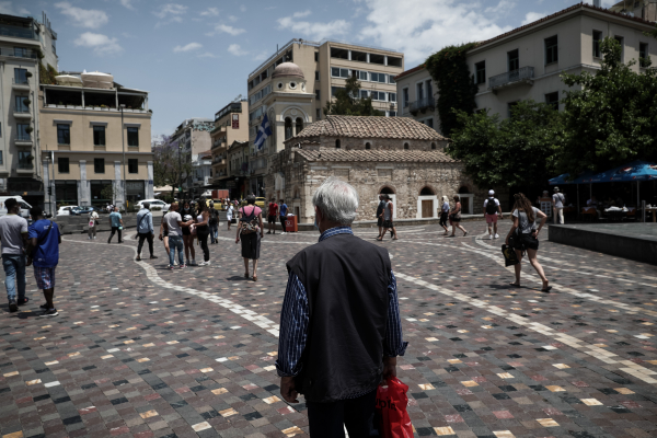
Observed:
[[[97,72],[61,74],[58,82],[41,85],[38,95],[41,160],[51,188],[46,205],[56,211],[60,205],[125,206],[152,198],[148,92]]]

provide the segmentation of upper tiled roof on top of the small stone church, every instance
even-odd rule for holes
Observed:
[[[295,141],[311,137],[397,138],[404,140],[447,141],[435,129],[408,117],[326,116],[307,126]]]

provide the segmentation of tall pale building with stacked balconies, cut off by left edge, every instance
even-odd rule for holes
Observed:
[[[46,15],[0,14],[0,192],[44,203],[38,100],[39,65],[57,68],[57,34]]]

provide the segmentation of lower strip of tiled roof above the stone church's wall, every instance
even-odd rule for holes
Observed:
[[[377,162],[416,162],[416,163],[457,163],[458,160],[438,151],[418,150],[304,150],[295,152],[307,161],[377,161]]]

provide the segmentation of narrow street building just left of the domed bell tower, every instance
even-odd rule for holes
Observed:
[[[231,102],[215,114],[212,141],[212,182],[218,188],[228,188],[231,177],[228,166],[228,147],[233,141],[249,141],[249,102],[246,99]]]

